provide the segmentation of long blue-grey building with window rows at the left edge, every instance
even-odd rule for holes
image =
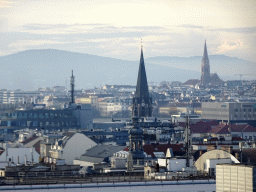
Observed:
[[[61,110],[7,110],[1,114],[0,126],[9,128],[92,128],[90,104],[76,105]]]

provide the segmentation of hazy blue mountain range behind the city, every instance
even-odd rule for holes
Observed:
[[[200,79],[201,59],[200,56],[147,58],[148,82]],[[234,74],[256,74],[256,63],[253,62],[224,55],[210,55],[209,60],[211,72],[217,72],[223,80],[239,79]],[[54,49],[27,50],[1,56],[0,65],[0,89],[23,90],[69,86],[72,69],[78,89],[104,84],[135,85],[139,69],[139,61]]]

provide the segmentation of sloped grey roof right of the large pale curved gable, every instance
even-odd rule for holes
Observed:
[[[96,145],[88,149],[85,154],[81,155],[80,160],[84,161],[86,159],[86,161],[88,160],[90,162],[102,162],[102,160],[106,157],[111,157],[113,156],[113,153],[121,151],[125,148],[126,146]]]

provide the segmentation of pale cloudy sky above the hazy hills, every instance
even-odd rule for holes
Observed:
[[[223,54],[256,62],[255,0],[0,0],[0,56],[59,49],[123,60]]]

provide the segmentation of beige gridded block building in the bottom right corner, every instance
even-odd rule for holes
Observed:
[[[241,164],[216,165],[216,191],[256,191],[256,167]]]

